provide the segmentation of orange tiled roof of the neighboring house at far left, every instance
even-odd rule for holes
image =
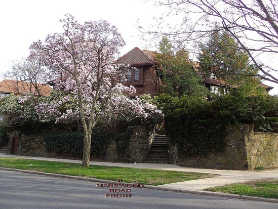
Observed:
[[[37,85],[38,88],[41,90],[42,96],[50,95],[50,92],[52,90],[50,86],[42,83],[37,83]],[[36,95],[37,93],[35,92],[35,89],[30,87],[31,87],[31,83],[27,81],[17,81],[17,80],[9,80],[9,79],[0,81],[0,92],[13,93],[19,95],[25,95],[25,94]]]

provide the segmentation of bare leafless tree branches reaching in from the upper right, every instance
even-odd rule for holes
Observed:
[[[179,45],[190,41],[204,42],[212,31],[227,31],[245,50],[262,73],[252,74],[278,83],[278,68],[263,63],[261,55],[278,54],[277,0],[160,0],[154,1],[169,7],[169,14],[182,15],[180,23],[168,25],[155,34],[172,36]],[[164,21],[165,18],[160,18]],[[162,27],[160,27],[162,28]],[[248,75],[241,72],[237,74]]]

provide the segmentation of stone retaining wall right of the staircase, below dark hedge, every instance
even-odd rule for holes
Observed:
[[[200,168],[253,170],[278,166],[278,133],[254,132],[251,126],[228,126],[225,152],[209,153],[206,157],[180,157],[177,144],[170,144],[173,164]]]

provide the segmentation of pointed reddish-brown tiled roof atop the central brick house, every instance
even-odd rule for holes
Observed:
[[[129,64],[130,66],[142,66],[142,65],[153,65],[156,62],[153,60],[153,55],[148,53],[151,51],[144,50],[141,51],[138,47],[129,51],[127,54],[120,57],[116,63]]]

